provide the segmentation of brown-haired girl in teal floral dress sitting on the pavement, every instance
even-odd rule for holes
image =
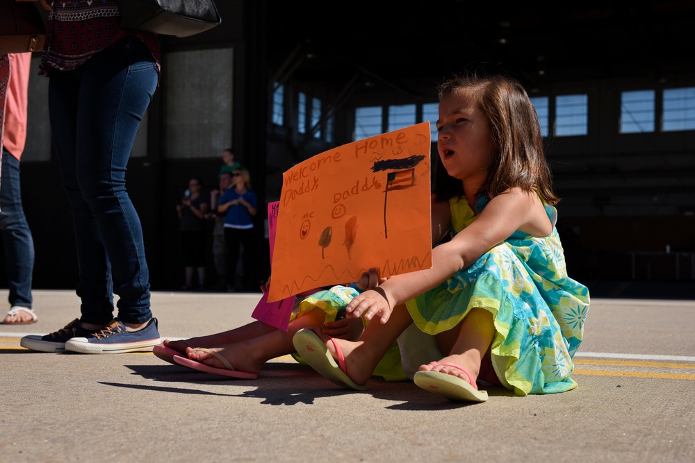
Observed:
[[[482,70],[443,83],[439,100],[432,218],[450,240],[432,250],[431,269],[352,299],[348,317],[379,321],[357,342],[304,329],[297,353],[334,382],[364,389],[402,335],[406,373],[447,398],[485,401],[477,380],[519,395],[574,389],[589,292],[566,273],[532,103],[514,79]]]

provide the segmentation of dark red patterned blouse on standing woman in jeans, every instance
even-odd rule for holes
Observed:
[[[75,69],[126,35],[138,37],[145,43],[159,69],[156,34],[126,31],[120,28],[120,17],[118,0],[51,2],[39,74],[49,76],[51,69]]]

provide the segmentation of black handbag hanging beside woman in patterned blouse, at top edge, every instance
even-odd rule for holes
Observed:
[[[133,31],[188,37],[220,22],[213,0],[119,0],[121,27]]]

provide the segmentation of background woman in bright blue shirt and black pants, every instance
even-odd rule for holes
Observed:
[[[236,288],[236,265],[243,246],[244,291],[254,291],[253,258],[257,257],[254,217],[257,207],[256,193],[251,189],[251,176],[243,167],[231,174],[231,187],[222,194],[218,212],[225,214],[224,242],[227,244],[227,291]]]

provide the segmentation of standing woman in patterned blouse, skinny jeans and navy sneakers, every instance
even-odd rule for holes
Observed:
[[[81,317],[35,351],[122,353],[160,344],[150,310],[140,218],[126,166],[159,81],[156,35],[120,28],[117,0],[40,0],[51,10],[39,74],[49,76],[49,115],[72,207]],[[113,294],[119,296],[113,317]]]

